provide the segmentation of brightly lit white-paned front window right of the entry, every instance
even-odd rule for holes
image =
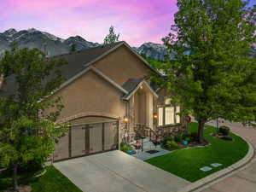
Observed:
[[[177,113],[180,113],[180,107],[173,106],[170,98],[166,99],[165,105],[158,107],[158,126],[179,124]]]

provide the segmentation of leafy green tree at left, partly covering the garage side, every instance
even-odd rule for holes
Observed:
[[[55,141],[67,132],[67,125],[55,123],[63,108],[61,98],[45,100],[63,83],[58,67],[65,63],[46,58],[38,49],[17,47],[0,60],[0,74],[5,79],[11,75],[17,84],[15,96],[0,95],[0,166],[13,170],[15,190],[18,167],[43,163],[54,152]]]

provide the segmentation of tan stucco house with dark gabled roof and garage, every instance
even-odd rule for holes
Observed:
[[[54,160],[117,149],[123,140],[134,140],[140,125],[152,131],[180,129],[180,107],[150,82],[150,74],[158,72],[125,42],[58,57],[68,61],[61,67],[67,81],[48,99],[62,97],[65,108],[58,121],[71,126],[56,144]],[[3,90],[12,95],[12,84],[3,84]]]

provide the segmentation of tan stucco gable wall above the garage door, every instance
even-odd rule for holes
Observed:
[[[54,96],[62,97],[65,108],[61,111],[59,119],[65,119],[80,113],[123,117],[125,116],[125,102],[120,100],[122,95],[123,93],[113,84],[93,71],[89,71],[57,91]]]

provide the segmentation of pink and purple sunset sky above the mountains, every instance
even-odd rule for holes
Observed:
[[[132,46],[161,43],[177,0],[1,0],[0,32],[36,28],[60,38],[102,43],[109,26]]]

